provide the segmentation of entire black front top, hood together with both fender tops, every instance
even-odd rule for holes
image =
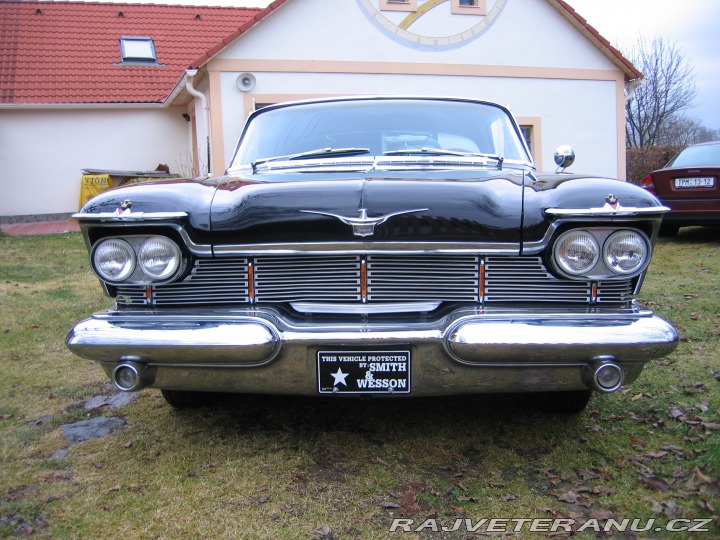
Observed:
[[[247,177],[172,180],[122,187],[91,199],[81,213],[185,212],[189,238],[206,246],[253,244],[462,243],[522,250],[540,245],[555,218],[547,209],[598,208],[609,195],[623,207],[658,208],[646,190],[580,175],[505,169],[370,172],[284,172]],[[607,221],[627,218],[607,216]],[[140,222],[127,222],[141,226]],[[157,221],[156,225],[160,225]],[[649,230],[647,232],[650,232]]]

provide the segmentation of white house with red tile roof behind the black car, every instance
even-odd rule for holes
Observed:
[[[253,109],[347,94],[508,106],[538,168],[625,174],[642,74],[562,0],[0,2],[0,219],[77,210],[83,169],[221,174]]]

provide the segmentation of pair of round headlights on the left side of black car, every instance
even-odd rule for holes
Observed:
[[[173,278],[182,262],[178,245],[165,236],[108,238],[92,251],[95,273],[110,283],[153,283]]]

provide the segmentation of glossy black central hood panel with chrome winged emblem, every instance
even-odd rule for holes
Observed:
[[[227,177],[215,244],[471,242],[519,245],[523,174],[468,171]]]

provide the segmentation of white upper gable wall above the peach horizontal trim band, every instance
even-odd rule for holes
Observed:
[[[377,0],[374,2],[377,4]],[[488,7],[494,0],[488,0]],[[434,10],[449,12],[449,3]],[[401,20],[407,13],[400,14]],[[383,16],[393,18],[390,12]],[[456,15],[453,19],[463,20]],[[422,19],[427,18],[423,17]],[[420,19],[420,20],[422,20]],[[438,26],[443,17],[431,20]],[[413,30],[410,27],[410,30]],[[448,25],[434,33],[454,33]],[[373,23],[360,0],[290,0],[217,58],[537,66],[614,69],[547,0],[506,0],[493,23],[458,46],[432,47],[391,36]]]

